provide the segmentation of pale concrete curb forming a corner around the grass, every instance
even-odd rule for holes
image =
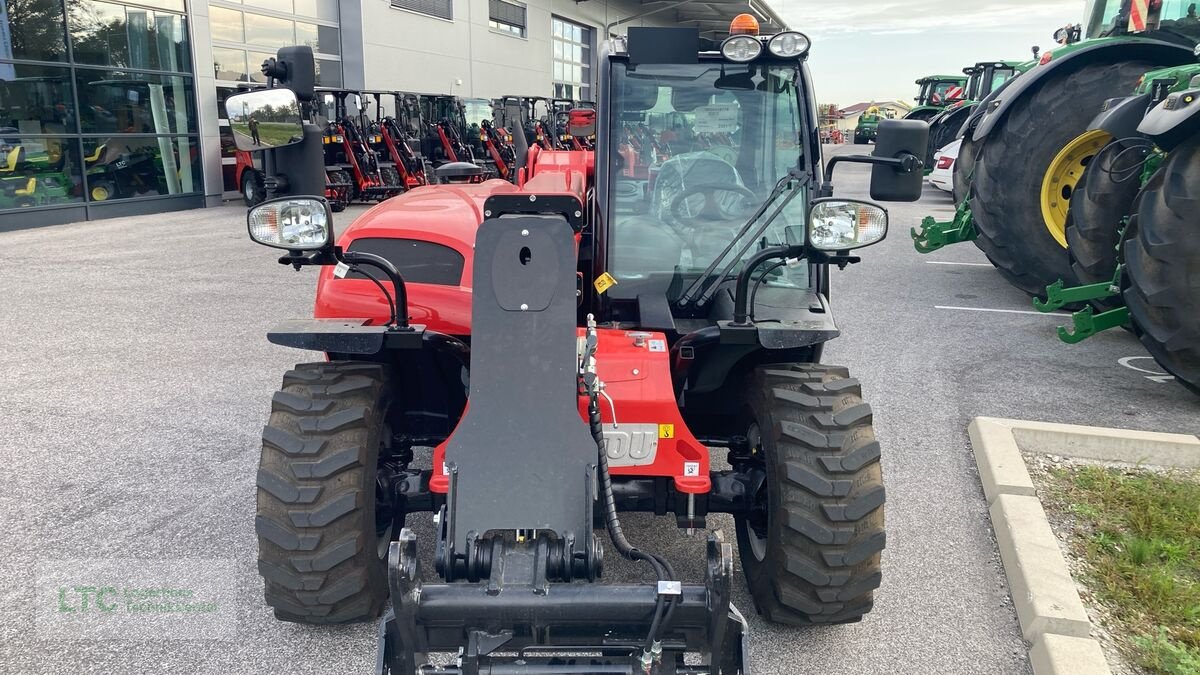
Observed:
[[[1034,675],[1110,674],[1021,450],[1200,468],[1200,438],[991,417],[967,434]]]

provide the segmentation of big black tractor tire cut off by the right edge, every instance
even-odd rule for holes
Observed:
[[[1175,149],[1142,191],[1126,243],[1126,305],[1158,365],[1200,394],[1200,138]]]

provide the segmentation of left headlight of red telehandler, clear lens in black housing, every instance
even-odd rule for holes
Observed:
[[[332,243],[334,214],[322,197],[283,197],[250,209],[246,227],[256,244],[318,251]]]

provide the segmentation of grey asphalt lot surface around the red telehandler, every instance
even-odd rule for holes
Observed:
[[[865,196],[868,175],[840,166],[838,195]],[[1063,317],[1032,312],[974,246],[913,251],[908,228],[948,217],[948,196],[928,189],[920,203],[888,208],[890,238],[834,273],[842,335],[826,351],[863,381],[876,413],[883,586],[862,623],[815,629],[764,625],[739,586],[751,671],[1028,673],[967,423],[984,414],[1196,434],[1200,399],[1156,375],[1123,331],[1058,342]],[[283,371],[313,360],[264,335],[311,312],[316,274],[275,264],[244,219],[228,205],[0,233],[0,671],[372,671],[373,625],[282,623],[262,599],[259,432]],[[625,521],[636,543],[702,578],[702,539],[665,520]],[[410,522],[432,540],[427,518]],[[712,525],[732,538],[727,519]],[[116,577],[174,565],[186,585],[206,562],[232,597],[211,631],[164,635],[130,621],[79,639],[55,616],[80,605],[65,609],[44,587],[52,567],[54,579],[74,567],[91,571],[77,583],[95,583],[103,565]],[[606,569],[617,580],[640,574]]]

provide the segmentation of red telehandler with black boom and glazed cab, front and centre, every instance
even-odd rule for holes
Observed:
[[[571,131],[595,150],[521,148],[515,183],[415,187],[336,241],[320,198],[250,211],[280,263],[319,265],[316,317],[269,334],[316,352],[263,431],[278,619],[382,616],[379,673],[743,673],[719,513],[766,619],[871,609],[881,450],[821,357],[830,273],[888,214],[830,177],[870,163],[872,198],[916,201],[928,127],[883,121],[874,155],[824,162],[809,38],[737,22],[606,43],[594,129]],[[636,178],[635,127],[673,137]],[[706,537],[704,578],[637,545],[629,512]],[[654,581],[604,581],[610,549]]]

